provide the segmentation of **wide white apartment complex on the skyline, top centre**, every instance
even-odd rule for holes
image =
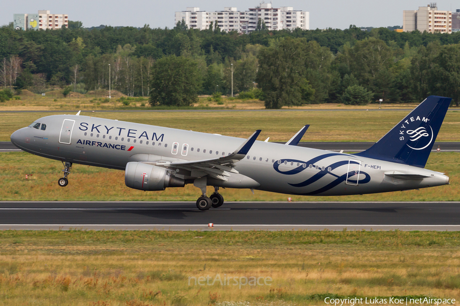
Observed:
[[[272,8],[271,3],[261,3],[260,6],[250,8],[248,11],[225,7],[223,11],[206,12],[191,7],[186,11],[175,13],[175,24],[184,20],[189,29],[209,29],[213,22],[213,28],[217,24],[223,31],[239,33],[255,31],[259,19],[264,21],[268,30],[310,29],[309,12],[295,11],[292,7]]]

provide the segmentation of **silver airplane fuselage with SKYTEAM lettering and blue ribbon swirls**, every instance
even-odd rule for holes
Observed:
[[[45,158],[118,170],[125,170],[129,162],[160,165],[216,159],[231,154],[244,141],[88,116],[54,115],[35,122],[45,124],[45,129],[29,126],[16,131],[12,141],[17,147]],[[295,195],[352,195],[449,183],[446,175],[420,167],[263,141],[254,142],[234,169],[238,173],[230,173],[228,181],[209,177],[207,185]],[[187,167],[168,171],[186,183],[206,175]]]

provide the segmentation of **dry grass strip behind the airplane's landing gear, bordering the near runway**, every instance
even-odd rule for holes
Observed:
[[[0,199],[2,200],[131,200],[131,201],[195,201],[199,190],[192,185],[144,192],[124,184],[124,171],[74,165],[70,183],[62,188],[62,164],[26,152],[0,154]],[[460,200],[460,153],[435,152],[426,168],[446,172],[451,184],[412,190],[354,196],[289,196],[293,201],[458,201]],[[26,179],[26,174],[32,174]],[[208,193],[212,193],[209,187]],[[247,189],[221,190],[226,201],[286,201],[288,195]]]

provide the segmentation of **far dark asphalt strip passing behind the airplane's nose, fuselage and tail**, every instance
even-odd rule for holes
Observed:
[[[279,142],[284,143],[284,142]],[[321,150],[359,152],[369,149],[374,142],[299,142],[298,146]],[[460,152],[460,142],[435,142],[432,151],[440,148],[443,152]],[[22,151],[10,141],[0,141],[0,152]]]

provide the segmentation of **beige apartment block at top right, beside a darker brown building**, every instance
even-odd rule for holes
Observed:
[[[403,30],[452,33],[452,12],[439,11],[436,3],[419,7],[416,11],[403,11]]]

